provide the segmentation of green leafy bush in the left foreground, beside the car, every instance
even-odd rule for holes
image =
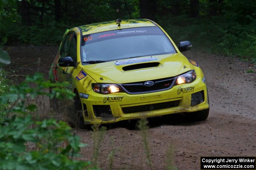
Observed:
[[[31,83],[35,86],[31,87]],[[66,83],[44,81],[42,74],[27,76],[26,80],[0,97],[0,169],[84,169],[90,162],[78,161],[80,137],[72,134],[65,122],[55,119],[33,120],[37,106],[27,102],[42,95],[50,98],[72,99],[74,94]],[[52,88],[49,93],[45,88]],[[13,115],[13,116],[11,116]]]

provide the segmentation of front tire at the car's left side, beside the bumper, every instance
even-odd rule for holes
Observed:
[[[74,110],[75,110],[76,127],[79,127],[81,129],[87,128],[87,125],[84,124],[82,104],[80,101],[80,97],[78,96],[77,93],[74,100],[74,107],[75,107]]]

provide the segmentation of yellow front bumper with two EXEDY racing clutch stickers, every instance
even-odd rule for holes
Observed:
[[[203,93],[204,100],[192,106],[191,95],[199,91]],[[192,83],[176,85],[169,90],[154,93],[104,95],[89,90],[86,94],[89,95],[87,99],[80,98],[85,124],[113,123],[209,108],[206,84],[200,76]],[[99,116],[98,112],[104,109],[105,113]]]

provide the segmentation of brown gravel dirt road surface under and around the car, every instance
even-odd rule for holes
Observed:
[[[12,63],[6,68],[19,83],[23,75],[48,71],[57,47],[9,47]],[[206,77],[210,115],[203,122],[189,122],[182,115],[149,119],[149,148],[153,169],[166,169],[172,150],[178,169],[199,169],[200,156],[256,156],[256,67],[236,58],[196,51],[184,53],[199,63]],[[40,57],[40,60],[39,60]],[[38,62],[39,61],[39,62]],[[45,100],[45,102],[48,102]],[[48,109],[48,108],[46,108]],[[135,121],[108,126],[99,148],[99,167],[108,169],[108,155],[114,153],[114,169],[148,169],[141,131]],[[76,130],[82,142],[82,160],[91,160],[92,131]]]

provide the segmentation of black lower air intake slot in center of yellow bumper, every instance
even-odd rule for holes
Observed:
[[[180,100],[168,101],[163,103],[146,104],[140,106],[122,107],[123,113],[147,112],[151,110],[167,109],[179,106]]]

